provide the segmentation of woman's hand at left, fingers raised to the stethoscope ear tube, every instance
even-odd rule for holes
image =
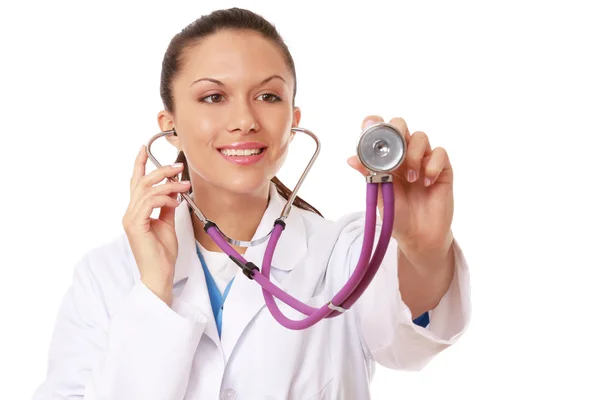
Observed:
[[[159,184],[178,175],[183,165],[168,165],[146,175],[148,155],[142,146],[131,177],[131,199],[123,216],[123,228],[140,270],[142,282],[169,307],[173,299],[173,276],[178,243],[175,234],[177,195],[187,192],[189,182]],[[150,218],[160,208],[158,219]]]

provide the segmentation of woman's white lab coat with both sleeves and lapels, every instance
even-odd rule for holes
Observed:
[[[272,186],[256,238],[272,228],[284,204]],[[294,207],[271,279],[315,307],[331,300],[358,260],[363,217],[359,212],[333,222]],[[87,253],[60,307],[48,375],[34,400],[364,400],[376,363],[419,370],[468,325],[469,274],[460,248],[455,245],[452,285],[425,329],[413,324],[401,299],[392,240],[352,309],[301,331],[280,326],[260,285],[240,270],[219,339],[185,202],[175,218],[179,255],[172,307],[140,282],[125,235]],[[265,247],[247,249],[246,259],[262,265]],[[277,302],[289,318],[305,317]]]

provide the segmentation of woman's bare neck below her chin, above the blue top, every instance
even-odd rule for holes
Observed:
[[[193,198],[206,218],[217,224],[223,233],[232,239],[249,241],[254,237],[267,209],[269,188],[267,185],[260,193],[240,195],[202,183],[194,185]],[[221,252],[221,248],[204,231],[204,226],[198,218],[194,216],[192,220],[194,236],[202,247],[208,251]],[[245,247],[233,248],[240,254],[246,251]]]

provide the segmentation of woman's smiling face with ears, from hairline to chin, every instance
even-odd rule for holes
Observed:
[[[264,193],[300,119],[283,54],[257,33],[227,30],[184,57],[173,81],[175,115],[159,121],[175,127],[172,143],[185,153],[192,182]]]

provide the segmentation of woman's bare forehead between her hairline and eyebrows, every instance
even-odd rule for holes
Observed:
[[[203,38],[184,55],[181,77],[264,79],[272,74],[290,75],[277,45],[252,31],[223,30]]]

